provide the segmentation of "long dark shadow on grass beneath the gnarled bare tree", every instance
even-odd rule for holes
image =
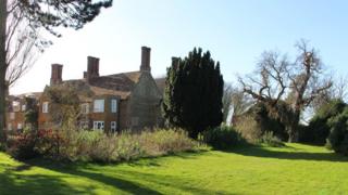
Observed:
[[[244,156],[290,159],[290,160],[348,161],[348,157],[341,156],[335,153],[311,153],[311,152],[303,152],[303,151],[301,152],[300,150],[294,150],[294,152],[270,151],[262,146],[247,146],[247,147],[227,150],[224,152],[231,152],[231,153],[235,153]]]

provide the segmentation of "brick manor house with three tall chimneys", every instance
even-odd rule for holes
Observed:
[[[50,101],[47,90],[50,87],[70,88],[77,93],[83,119],[82,128],[114,132],[124,129],[138,130],[145,127],[159,126],[161,118],[161,101],[163,79],[157,81],[151,75],[151,49],[141,47],[141,64],[139,70],[113,75],[99,75],[99,58],[87,57],[87,72],[83,78],[62,80],[63,65],[52,64],[50,86],[42,93],[8,98],[7,129],[22,129],[25,125],[24,98],[37,101],[38,128],[54,127],[51,121]],[[158,87],[158,83],[161,87]]]

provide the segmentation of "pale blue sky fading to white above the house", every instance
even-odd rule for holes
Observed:
[[[263,51],[290,57],[300,39],[320,51],[335,75],[348,75],[348,1],[345,0],[114,0],[83,29],[62,38],[37,60],[10,93],[42,91],[51,64],[63,64],[63,79],[78,79],[87,56],[100,58],[100,75],[138,70],[140,48],[151,48],[153,77],[165,75],[172,56],[195,47],[221,63],[226,82],[249,74]]]

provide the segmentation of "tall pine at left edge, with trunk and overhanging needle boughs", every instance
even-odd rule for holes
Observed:
[[[55,30],[59,27],[79,29],[91,22],[102,8],[112,5],[112,0],[1,0],[0,1],[0,141],[5,141],[5,94],[9,87],[7,74],[9,68],[9,51],[14,46],[8,46],[11,32],[8,30],[9,18],[23,17],[28,25],[27,30],[37,32],[44,28],[60,37]],[[16,14],[13,14],[16,13]],[[20,14],[18,14],[20,13]],[[12,14],[12,15],[11,15]],[[11,25],[10,25],[11,26]],[[33,35],[33,34],[32,34]],[[39,47],[45,41],[36,42]],[[10,70],[11,73],[11,70]],[[14,74],[15,75],[15,74]],[[8,76],[8,78],[10,78]]]

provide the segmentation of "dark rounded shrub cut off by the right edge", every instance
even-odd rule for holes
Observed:
[[[328,120],[331,132],[326,146],[336,153],[348,156],[348,107],[341,114]]]

